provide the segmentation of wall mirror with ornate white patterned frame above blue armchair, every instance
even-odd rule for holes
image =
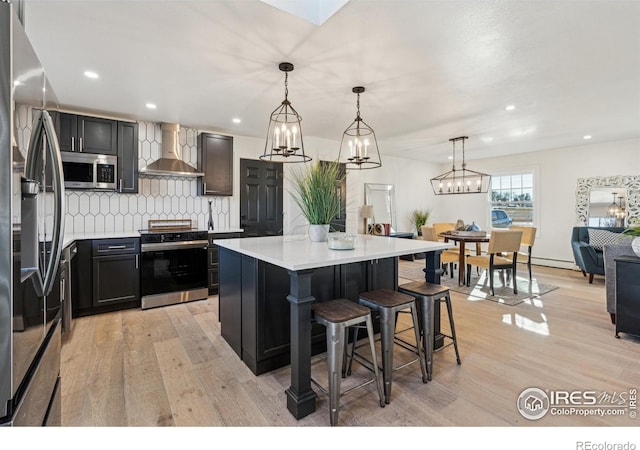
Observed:
[[[640,176],[579,178],[576,224],[596,227],[640,224]]]

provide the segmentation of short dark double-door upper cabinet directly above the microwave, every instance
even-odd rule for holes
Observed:
[[[118,154],[118,121],[59,113],[56,132],[60,151]]]

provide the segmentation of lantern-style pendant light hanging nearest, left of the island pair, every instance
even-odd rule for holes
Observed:
[[[311,157],[304,153],[302,128],[300,127],[302,118],[287,98],[289,72],[293,71],[293,64],[283,62],[279,64],[278,68],[284,72],[284,100],[271,113],[267,129],[267,142],[260,159],[286,163],[311,161]]]

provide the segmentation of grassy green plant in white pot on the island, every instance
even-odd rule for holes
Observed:
[[[343,177],[337,161],[316,161],[292,172],[291,195],[309,222],[309,238],[314,242],[327,240],[329,224],[340,213],[337,184]]]

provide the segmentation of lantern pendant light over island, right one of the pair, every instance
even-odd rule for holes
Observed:
[[[338,161],[344,163],[347,169],[375,169],[382,165],[382,161],[376,133],[360,117],[360,94],[364,92],[364,87],[356,86],[351,92],[358,96],[357,113],[355,120],[342,134]]]

